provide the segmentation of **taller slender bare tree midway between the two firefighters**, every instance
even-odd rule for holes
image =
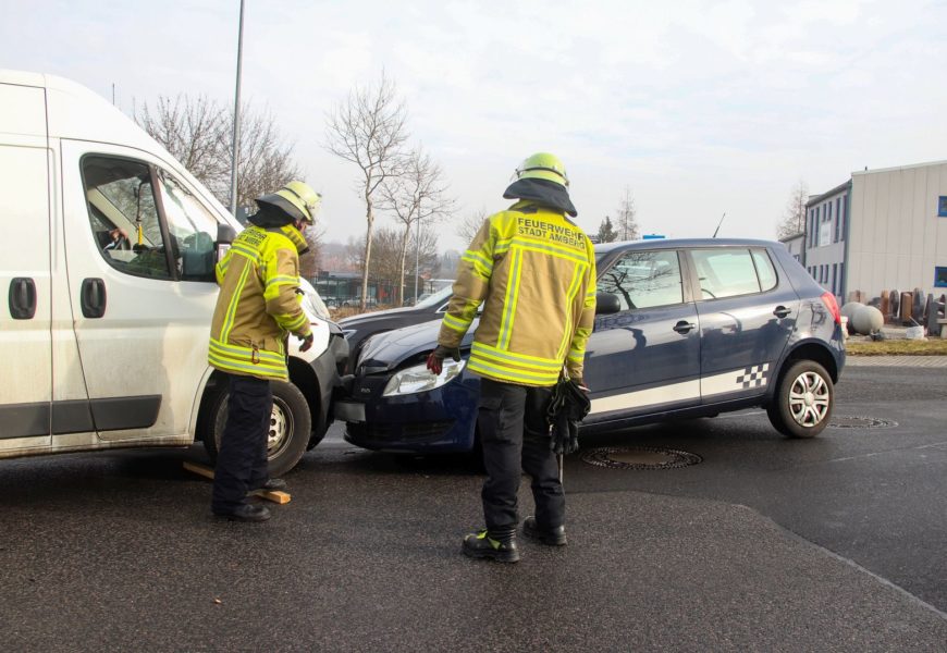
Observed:
[[[372,231],[374,226],[374,194],[385,180],[398,176],[404,159],[404,144],[408,138],[407,110],[396,98],[393,82],[382,72],[374,86],[356,87],[348,99],[341,102],[328,116],[325,148],[355,163],[361,171],[358,189],[365,201],[366,238],[362,257],[361,301],[365,308],[368,294],[368,272],[371,263]]]

